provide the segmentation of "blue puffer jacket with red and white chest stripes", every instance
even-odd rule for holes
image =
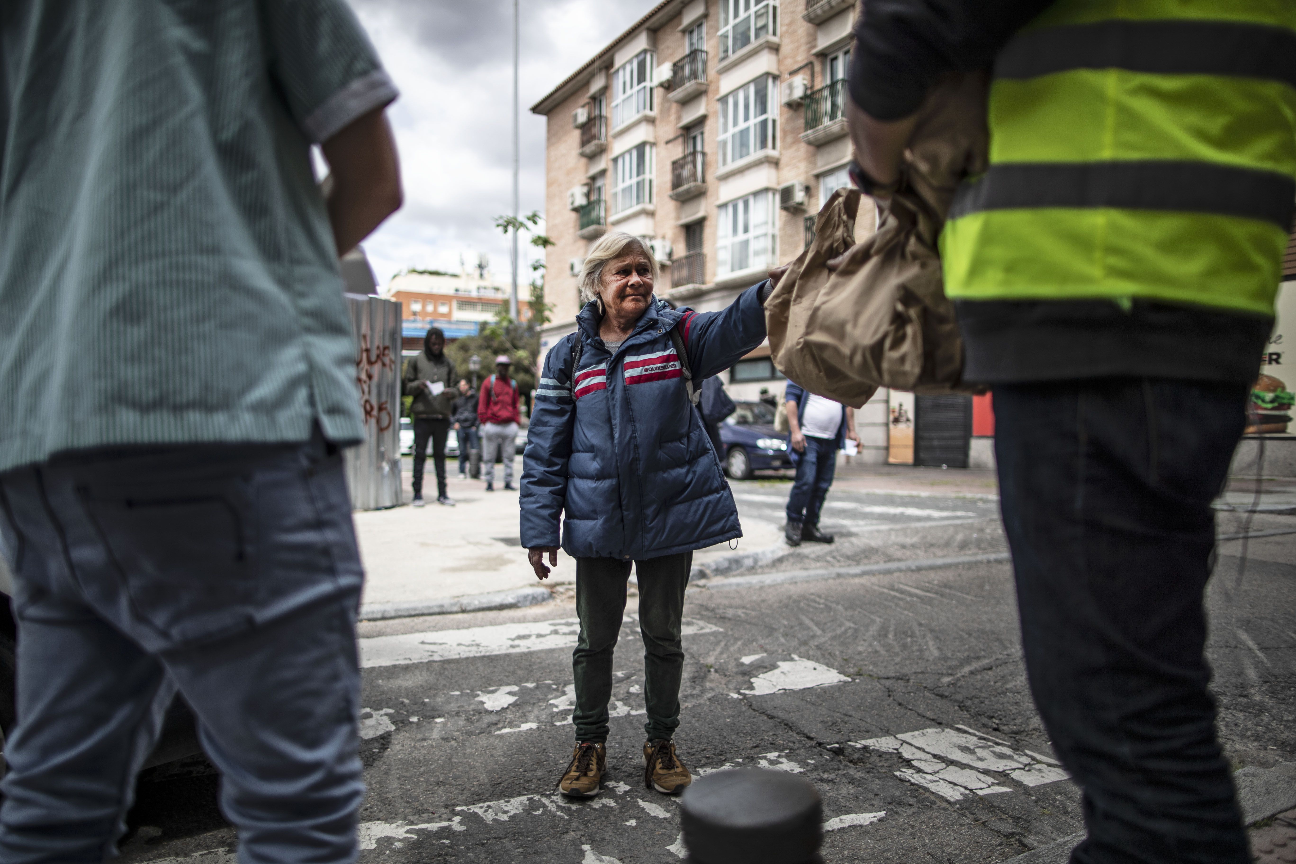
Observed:
[[[651,303],[612,352],[586,304],[577,332],[550,350],[535,391],[522,457],[524,547],[560,545],[564,510],[561,547],[577,558],[654,558],[743,536],[669,330],[680,328],[701,383],[765,338],[759,289],[722,312]],[[574,339],[582,347],[573,376]]]

